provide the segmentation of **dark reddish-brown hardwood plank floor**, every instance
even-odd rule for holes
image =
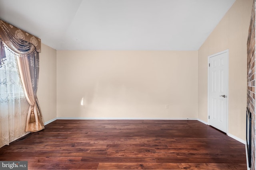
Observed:
[[[0,148],[28,169],[246,170],[245,145],[194,120],[56,120]]]

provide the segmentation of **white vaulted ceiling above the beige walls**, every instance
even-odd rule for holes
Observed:
[[[235,0],[0,0],[0,19],[57,50],[198,50]]]

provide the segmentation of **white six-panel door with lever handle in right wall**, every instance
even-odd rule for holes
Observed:
[[[228,51],[209,56],[208,123],[227,133]]]

